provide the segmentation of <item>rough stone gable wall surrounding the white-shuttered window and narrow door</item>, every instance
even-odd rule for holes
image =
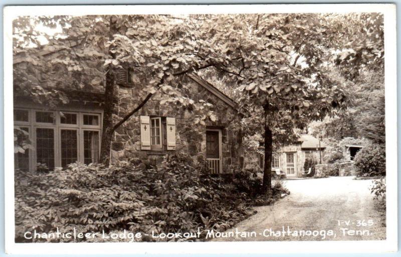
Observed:
[[[231,165],[242,166],[242,135],[239,130],[235,129],[235,126],[240,121],[236,110],[190,78],[186,78],[183,83],[185,84],[185,89],[182,90],[184,95],[194,101],[202,99],[213,104],[211,110],[217,115],[217,120],[205,120],[206,125],[195,124],[194,113],[187,109],[171,106],[171,104],[160,105],[160,97],[155,95],[137,115],[129,118],[116,130],[111,146],[112,162],[139,158],[145,163],[156,165],[161,162],[163,156],[174,152],[187,153],[195,163],[205,160],[206,130],[211,128],[222,129],[223,171],[229,172]],[[119,102],[114,116],[116,121],[140,103],[142,98],[138,94],[139,90],[141,90],[139,87],[119,87]],[[162,151],[141,150],[140,115],[175,117],[176,150],[167,151],[166,146],[163,146]]]

